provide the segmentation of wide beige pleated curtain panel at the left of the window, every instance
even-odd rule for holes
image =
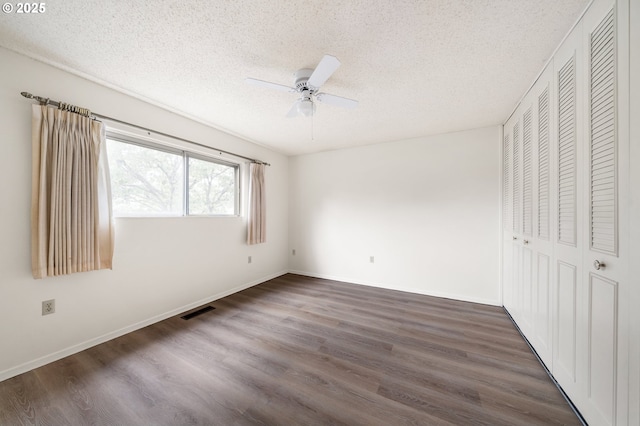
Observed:
[[[33,105],[31,262],[34,278],[111,269],[114,229],[105,129]]]

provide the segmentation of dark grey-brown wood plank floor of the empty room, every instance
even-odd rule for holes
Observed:
[[[579,424],[498,307],[299,275],[211,305],[0,382],[0,424]]]

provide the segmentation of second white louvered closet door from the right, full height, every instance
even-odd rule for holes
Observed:
[[[553,362],[552,372],[563,389],[575,401],[583,398],[587,359],[584,351],[585,330],[582,316],[582,243],[579,230],[585,212],[584,187],[584,108],[582,27],[576,26],[554,56],[552,88],[555,91],[555,145],[550,149],[551,173],[554,176],[556,208],[551,220],[556,222],[550,237],[553,241]]]

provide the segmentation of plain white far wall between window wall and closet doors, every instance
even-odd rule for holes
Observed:
[[[291,158],[290,269],[501,304],[499,150],[490,127]]]

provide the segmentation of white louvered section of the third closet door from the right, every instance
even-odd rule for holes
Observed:
[[[538,97],[538,238],[549,240],[549,88]]]

